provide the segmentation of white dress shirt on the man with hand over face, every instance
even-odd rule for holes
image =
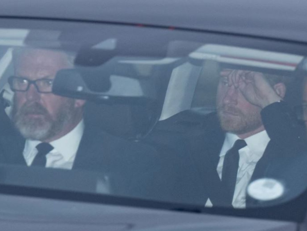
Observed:
[[[216,171],[222,178],[223,162],[225,155],[229,149],[234,145],[235,141],[240,139],[233,133],[226,133],[226,137],[220,152],[220,160],[217,165]],[[255,170],[257,162],[262,157],[270,138],[265,130],[255,135],[244,139],[247,146],[239,150],[239,168],[237,174],[237,181],[235,185],[234,197],[232,205],[235,208],[245,208],[246,188],[251,180],[251,176]],[[206,202],[207,207],[211,207],[212,203],[208,199]]]

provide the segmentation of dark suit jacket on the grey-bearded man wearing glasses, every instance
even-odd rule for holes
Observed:
[[[7,120],[10,123],[9,120]],[[0,163],[26,166],[22,155],[25,139],[9,126],[0,135]],[[111,193],[120,196],[170,200],[172,173],[155,148],[108,134],[85,125],[72,170],[104,173]]]

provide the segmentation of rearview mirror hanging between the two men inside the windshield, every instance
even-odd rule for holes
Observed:
[[[104,73],[101,69],[60,70],[53,82],[57,95],[104,103],[147,103],[156,99],[151,78],[133,78]]]

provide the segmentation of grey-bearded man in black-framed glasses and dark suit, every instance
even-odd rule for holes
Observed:
[[[0,136],[1,163],[105,173],[111,193],[123,196],[156,198],[169,190],[162,189],[165,179],[159,178],[161,163],[155,149],[87,123],[84,100],[52,93],[57,71],[73,68],[70,56],[26,48],[13,53],[13,64],[9,84],[15,93],[11,115],[15,129]]]

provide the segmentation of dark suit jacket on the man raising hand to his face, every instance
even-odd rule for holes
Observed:
[[[262,122],[270,137],[261,159],[257,162],[251,181],[263,177],[277,177],[282,173],[280,166],[288,165],[305,151],[305,135],[291,110],[285,103],[274,103],[261,112]],[[224,205],[225,196],[220,188],[216,172],[219,153],[225,139],[216,114],[211,114],[201,126],[201,131],[192,133],[188,139],[191,154],[197,168],[203,172],[208,196],[213,205]],[[280,177],[277,179],[281,179]],[[281,179],[285,182],[285,178]],[[289,182],[287,182],[289,183]],[[261,202],[247,197],[247,206]]]

